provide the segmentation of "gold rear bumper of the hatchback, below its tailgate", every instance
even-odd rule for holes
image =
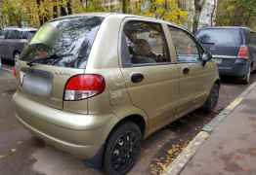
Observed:
[[[14,95],[18,121],[46,143],[75,157],[95,157],[105,144],[116,118],[64,112]]]

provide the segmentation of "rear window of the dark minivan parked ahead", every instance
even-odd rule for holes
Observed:
[[[238,29],[203,29],[197,35],[202,44],[214,44],[216,46],[238,46],[241,44],[241,35]]]

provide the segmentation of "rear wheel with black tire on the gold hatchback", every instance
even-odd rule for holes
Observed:
[[[129,172],[141,153],[143,136],[135,123],[123,123],[111,133],[105,150],[104,171],[107,175]]]

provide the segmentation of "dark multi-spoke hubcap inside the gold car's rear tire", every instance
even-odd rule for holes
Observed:
[[[135,162],[140,153],[140,138],[134,132],[125,132],[115,142],[111,153],[111,166],[122,172]]]

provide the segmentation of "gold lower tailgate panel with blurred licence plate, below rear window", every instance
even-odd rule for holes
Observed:
[[[33,101],[56,109],[64,108],[64,87],[68,79],[84,73],[83,69],[40,64],[29,67],[22,61],[17,68],[21,93]]]

